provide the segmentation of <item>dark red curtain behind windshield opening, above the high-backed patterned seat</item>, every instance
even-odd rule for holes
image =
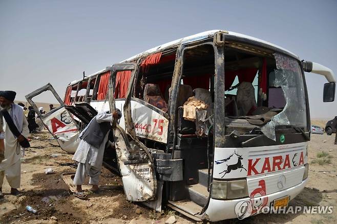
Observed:
[[[235,71],[225,71],[225,91],[233,84],[235,77],[238,76],[239,83],[241,82],[253,82],[258,72],[256,68],[240,69]]]

